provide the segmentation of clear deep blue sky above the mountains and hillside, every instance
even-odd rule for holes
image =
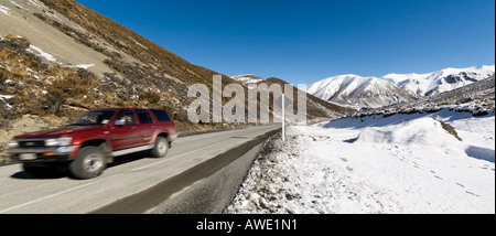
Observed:
[[[192,64],[312,84],[495,64],[494,0],[77,0]]]

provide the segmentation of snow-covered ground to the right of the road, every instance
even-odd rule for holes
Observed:
[[[225,212],[494,214],[494,114],[291,126],[284,142],[265,144]]]

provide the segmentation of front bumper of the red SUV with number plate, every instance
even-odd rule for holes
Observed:
[[[10,148],[7,153],[20,162],[31,161],[67,161],[77,146],[43,147],[43,148]]]

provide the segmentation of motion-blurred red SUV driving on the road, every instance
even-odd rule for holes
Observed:
[[[8,153],[30,176],[45,175],[68,164],[78,179],[98,176],[115,157],[149,150],[165,157],[177,138],[175,124],[162,109],[90,110],[57,129],[14,137]]]

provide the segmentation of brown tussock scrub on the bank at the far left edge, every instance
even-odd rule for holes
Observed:
[[[96,75],[83,68],[48,65],[26,49],[30,42],[11,34],[0,41],[0,92],[14,95],[9,100],[12,108],[3,109],[2,119],[15,119],[25,114],[57,115],[71,114],[67,99],[80,100],[91,107],[91,96],[99,85]],[[4,83],[9,79],[9,83]],[[95,97],[95,96],[93,96]]]

